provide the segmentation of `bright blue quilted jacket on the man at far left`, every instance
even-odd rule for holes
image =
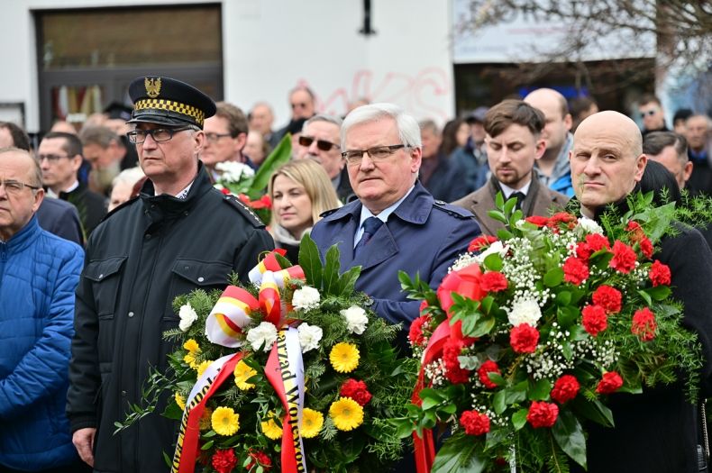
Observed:
[[[78,459],[64,410],[83,261],[81,247],[45,232],[34,216],[0,241],[2,466],[34,471]]]

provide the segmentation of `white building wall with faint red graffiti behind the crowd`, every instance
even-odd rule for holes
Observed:
[[[173,1],[199,4],[204,1]],[[317,109],[344,114],[367,96],[394,102],[417,118],[443,123],[454,114],[447,2],[372,0],[365,37],[361,0],[223,0],[224,98],[249,110],[274,106],[278,127],[289,118],[288,90],[310,86]],[[33,10],[167,5],[111,0],[13,0],[0,5],[0,103],[23,102],[29,132],[40,126]],[[150,70],[146,71],[151,73]]]

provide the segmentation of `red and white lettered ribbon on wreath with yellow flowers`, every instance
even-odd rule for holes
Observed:
[[[289,428],[283,430],[285,436],[282,439],[282,468],[283,471],[306,471],[298,428],[304,405],[302,351],[297,329],[283,328],[287,323],[287,311],[283,310],[279,297],[279,289],[287,287],[289,280],[305,278],[304,271],[299,266],[282,269],[274,252],[270,252],[251,269],[249,275],[252,284],[260,286],[258,298],[241,287],[227,287],[205,319],[205,335],[215,344],[239,349],[244,344],[243,332],[253,325],[252,314],[257,312],[264,315],[265,322],[273,323],[278,328],[278,341],[272,346],[265,372],[288,413],[284,425]],[[283,340],[281,348],[279,337]],[[196,381],[183,414],[171,473],[193,472],[199,450],[200,417],[205,411],[205,403],[233,374],[235,365],[242,357],[243,352],[239,351],[215,360]],[[270,372],[272,377],[269,377]]]

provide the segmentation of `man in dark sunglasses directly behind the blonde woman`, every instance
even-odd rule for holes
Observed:
[[[332,180],[336,195],[342,202],[347,202],[353,191],[339,144],[341,126],[342,119],[331,115],[318,114],[307,120],[299,137],[297,156],[314,159],[321,164]]]

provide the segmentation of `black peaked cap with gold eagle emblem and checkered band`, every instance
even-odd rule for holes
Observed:
[[[215,115],[215,102],[185,82],[170,77],[137,77],[129,86],[133,112],[128,123],[196,125]]]

